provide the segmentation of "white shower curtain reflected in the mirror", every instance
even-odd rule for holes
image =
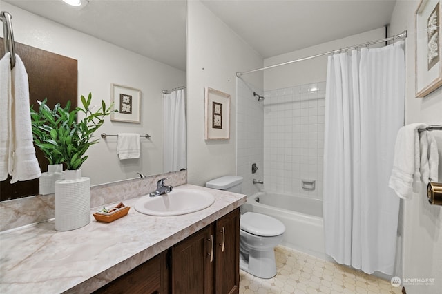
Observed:
[[[186,168],[186,92],[163,94],[164,172]]]

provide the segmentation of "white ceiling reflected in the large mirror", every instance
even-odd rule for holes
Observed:
[[[60,0],[3,1],[186,70],[185,0],[90,0],[80,10]]]

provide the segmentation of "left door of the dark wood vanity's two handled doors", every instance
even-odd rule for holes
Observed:
[[[210,225],[172,247],[171,293],[213,293],[214,242]]]

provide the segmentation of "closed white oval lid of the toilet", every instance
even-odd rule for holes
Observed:
[[[255,212],[246,212],[241,216],[240,229],[262,237],[281,235],[285,232],[282,222],[271,216]]]

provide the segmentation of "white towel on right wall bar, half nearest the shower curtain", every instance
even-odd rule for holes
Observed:
[[[392,175],[388,187],[403,199],[413,194],[413,180],[420,178],[420,153],[418,129],[427,127],[423,123],[412,123],[399,129],[394,145]]]

